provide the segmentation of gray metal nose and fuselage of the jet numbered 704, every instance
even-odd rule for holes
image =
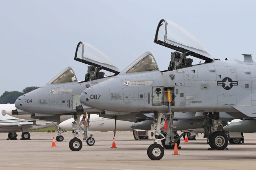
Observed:
[[[71,67],[67,67],[61,73],[64,73],[69,69],[71,69]],[[111,77],[105,77],[103,79],[96,79],[82,83],[79,83],[78,81],[57,84],[48,83],[44,87],[40,87],[39,89],[18,97],[15,102],[15,106],[18,109],[18,112],[20,110],[26,111],[26,114],[33,113],[36,117],[50,117],[52,115],[73,115],[76,113],[76,106],[80,105],[79,96],[81,92],[87,88],[86,86],[91,86],[110,78]],[[52,93],[52,91],[59,90],[72,90],[72,92]],[[32,102],[28,103],[28,100],[32,100]]]

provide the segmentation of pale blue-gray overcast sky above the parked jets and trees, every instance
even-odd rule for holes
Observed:
[[[190,32],[212,57],[243,60],[256,54],[255,9],[256,1],[235,0],[2,0],[0,95],[42,87],[68,66],[83,80],[87,65],[74,61],[79,41],[120,70],[146,51],[165,70],[171,49],[153,42],[161,19]]]

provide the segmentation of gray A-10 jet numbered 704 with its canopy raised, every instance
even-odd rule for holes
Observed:
[[[82,58],[77,56],[82,56]],[[12,115],[30,114],[33,119],[56,121],[58,125],[61,115],[74,115],[75,121],[72,123],[72,126],[76,129],[74,130],[74,139],[76,139],[78,132],[82,130],[82,127],[80,127],[80,115],[76,116],[76,106],[80,105],[80,94],[87,87],[109,79],[112,77],[111,74],[117,75],[120,71],[104,53],[88,43],[78,43],[74,59],[90,65],[88,66],[88,72],[85,75],[84,81],[78,82],[73,69],[67,67],[44,87],[40,87],[36,89],[36,91],[31,91],[18,97],[15,102],[17,109],[12,110]],[[111,74],[108,75],[108,77],[104,77],[105,73],[102,70],[105,72],[108,71],[108,73]],[[91,111],[99,112],[98,109],[93,109],[92,107],[88,108]],[[92,134],[90,134],[90,138],[88,138],[89,122],[86,121],[88,120],[85,119],[86,116],[87,115],[84,115],[84,122],[82,122],[82,124],[84,124],[87,130],[84,134],[84,140],[87,138],[86,142],[89,144],[92,143],[91,140],[94,139],[92,138]],[[90,117],[90,115],[88,115],[88,117]],[[59,136],[61,129],[58,126],[57,130]],[[58,136],[56,137],[57,140]],[[61,136],[61,138],[62,140],[64,139],[63,136]],[[74,147],[76,147],[76,140],[72,141]],[[74,147],[73,144],[70,145],[71,149]]]

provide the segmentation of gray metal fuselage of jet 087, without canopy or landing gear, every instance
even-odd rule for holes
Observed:
[[[144,53],[139,60],[148,54],[150,53]],[[240,114],[244,114],[242,117],[256,116],[256,63],[254,62],[213,60],[210,63],[173,71],[159,71],[159,69],[137,73],[126,73],[126,71],[85,89],[80,96],[80,102],[100,109],[106,115],[168,112],[168,105],[152,105],[156,96],[153,88],[160,87],[172,89],[174,92],[172,93],[172,100],[175,101],[172,103],[173,112],[226,112],[234,117],[241,117]],[[175,76],[173,80],[170,75]],[[226,86],[230,86],[230,89],[224,89],[225,84],[222,82],[227,80],[225,77],[233,81]],[[126,86],[127,81],[153,81],[153,83],[148,86]],[[236,81],[237,85],[234,85]],[[219,82],[223,87],[218,85]],[[119,98],[111,98],[113,93],[119,93]],[[140,97],[140,94],[143,96]],[[100,95],[100,98],[91,99],[90,95]],[[164,103],[164,96],[161,100]]]

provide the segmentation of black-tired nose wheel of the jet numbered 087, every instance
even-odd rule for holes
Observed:
[[[154,143],[148,147],[148,158],[151,160],[160,160],[164,156],[164,148],[160,144]]]

